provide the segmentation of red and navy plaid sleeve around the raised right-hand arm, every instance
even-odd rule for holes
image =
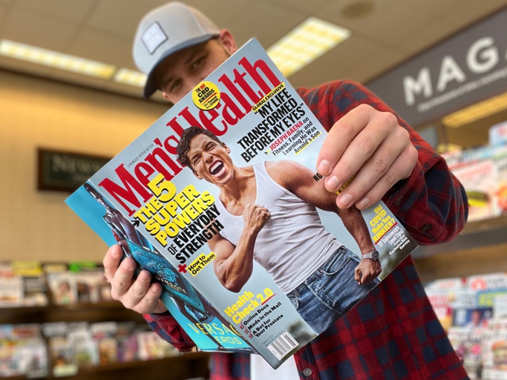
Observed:
[[[365,87],[348,81],[298,92],[328,131],[359,104],[393,113],[409,132],[419,160],[412,175],[393,186],[382,200],[419,244],[449,241],[463,229],[468,211],[463,187],[445,160],[385,103]]]

